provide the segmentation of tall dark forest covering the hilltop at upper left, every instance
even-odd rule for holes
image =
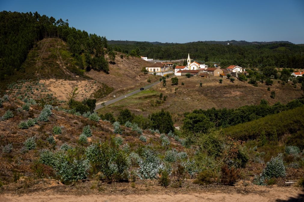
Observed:
[[[80,69],[109,71],[104,58],[107,39],[69,27],[68,20],[40,15],[37,12],[0,12],[0,80],[8,79],[21,68],[29,50],[43,38],[65,41]]]

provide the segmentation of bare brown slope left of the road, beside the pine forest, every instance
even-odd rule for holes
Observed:
[[[143,67],[149,65],[149,62],[137,57],[130,56],[126,58],[126,55],[124,55],[122,59],[120,55],[121,53],[116,54],[115,65],[109,64],[109,74],[94,70],[85,73],[85,75],[88,75],[96,81],[114,88],[114,92],[112,92],[107,99],[112,98],[113,95],[118,96],[126,91],[148,85],[148,79],[150,79],[151,82],[159,79],[158,76],[143,74],[143,72],[140,71]]]

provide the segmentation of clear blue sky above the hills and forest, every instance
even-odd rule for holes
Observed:
[[[0,10],[38,12],[108,40],[304,43],[303,0],[25,1]]]

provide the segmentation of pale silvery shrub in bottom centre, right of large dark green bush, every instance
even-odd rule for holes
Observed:
[[[138,177],[140,179],[155,179],[158,171],[164,169],[164,165],[160,163],[160,159],[152,150],[145,150],[143,157],[144,159],[139,162]]]

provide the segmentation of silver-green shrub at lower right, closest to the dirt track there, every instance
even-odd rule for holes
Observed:
[[[260,174],[256,177],[254,182],[258,185],[264,185],[264,180],[269,180],[272,177],[285,177],[286,168],[283,161],[283,155],[278,154],[277,157],[272,157],[270,161],[267,162],[266,167]]]

